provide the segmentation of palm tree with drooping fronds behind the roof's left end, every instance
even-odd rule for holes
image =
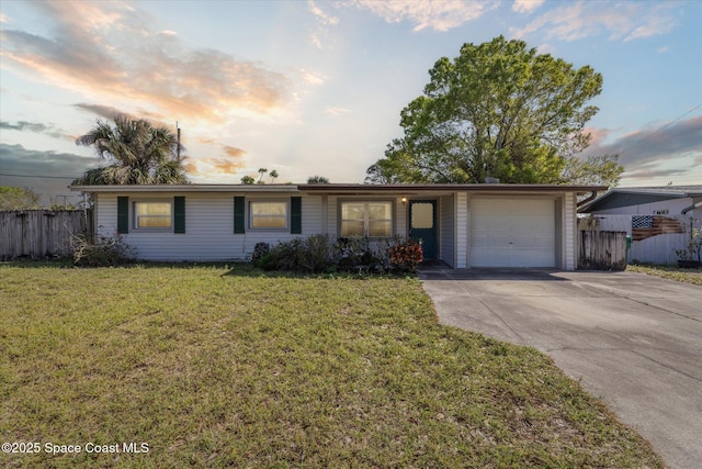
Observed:
[[[166,127],[114,118],[114,126],[98,120],[90,133],[78,137],[77,145],[92,146],[98,157],[111,163],[90,169],[73,185],[178,185],[188,183],[185,169],[178,158],[184,148],[178,137]]]

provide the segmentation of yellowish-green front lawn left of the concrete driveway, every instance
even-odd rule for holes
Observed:
[[[416,278],[0,266],[0,434],[147,454],[4,467],[663,467],[529,347],[439,325]]]

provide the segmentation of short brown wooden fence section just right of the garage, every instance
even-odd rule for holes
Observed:
[[[626,232],[580,231],[578,241],[578,269],[626,269]]]

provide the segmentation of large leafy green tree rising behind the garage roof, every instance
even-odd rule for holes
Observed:
[[[423,94],[400,113],[404,137],[367,169],[366,182],[619,181],[616,155],[575,156],[588,147],[585,124],[598,111],[587,103],[602,90],[591,67],[499,36],[464,44],[429,75]]]

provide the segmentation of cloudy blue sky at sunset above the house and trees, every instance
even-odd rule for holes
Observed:
[[[604,79],[586,154],[621,186],[702,183],[702,2],[0,3],[0,186],[63,201],[115,113],[182,130],[194,182],[362,182],[428,70],[498,35]]]

